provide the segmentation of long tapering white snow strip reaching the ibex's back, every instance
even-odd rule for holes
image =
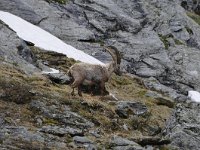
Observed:
[[[12,28],[20,38],[34,43],[37,47],[63,53],[69,58],[74,58],[75,60],[82,62],[104,65],[104,63],[98,59],[64,43],[62,40],[47,31],[23,20],[20,17],[8,12],[0,11],[0,20]]]

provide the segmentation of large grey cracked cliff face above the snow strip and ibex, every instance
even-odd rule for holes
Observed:
[[[109,58],[101,53],[101,44],[114,45],[124,53],[124,70],[155,77],[186,94],[200,89],[200,29],[190,18],[194,12],[187,13],[181,5],[179,0],[2,0],[0,8],[104,62]]]

